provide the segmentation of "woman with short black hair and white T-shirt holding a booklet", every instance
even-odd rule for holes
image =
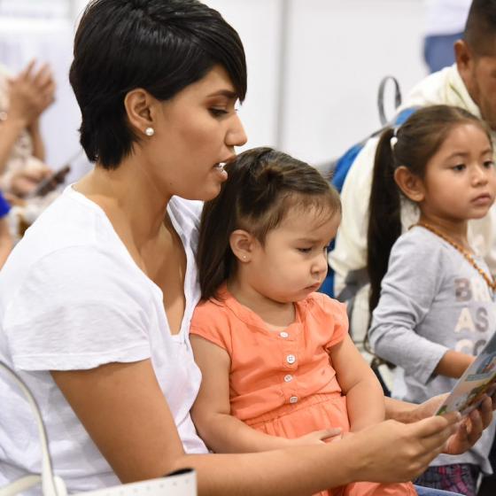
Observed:
[[[198,471],[200,494],[312,494],[414,477],[490,421],[387,421],[339,442],[207,454],[190,419],[200,373],[188,336],[199,299],[196,200],[214,198],[246,141],[244,50],[195,0],[96,0],[70,74],[96,167],[27,231],[0,278],[0,360],[35,392],[70,492]],[[0,485],[39,471],[27,404],[0,380]],[[436,402],[434,402],[436,403]],[[391,403],[412,422],[420,408]]]

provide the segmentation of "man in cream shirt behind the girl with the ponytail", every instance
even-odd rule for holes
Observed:
[[[454,56],[455,64],[420,81],[398,112],[423,105],[459,106],[482,118],[491,128],[492,142],[496,143],[496,0],[472,2],[463,39],[454,43]],[[343,218],[337,231],[336,247],[329,252],[329,264],[335,271],[336,295],[356,283],[362,269],[367,267],[368,203],[377,143],[375,137],[365,144],[354,160],[342,190]],[[418,211],[404,202],[401,207],[403,229],[408,229],[417,220]],[[476,252],[484,257],[492,275],[496,274],[494,206],[484,219],[469,221],[469,240]],[[361,286],[354,298],[351,327],[353,335],[359,339],[368,329],[368,291],[368,284]],[[494,453],[490,459],[494,469]]]

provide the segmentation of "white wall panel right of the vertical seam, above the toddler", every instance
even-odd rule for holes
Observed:
[[[292,0],[281,146],[320,163],[380,127],[379,82],[426,74],[416,0]],[[391,96],[392,100],[392,96]],[[391,105],[392,108],[392,105]]]

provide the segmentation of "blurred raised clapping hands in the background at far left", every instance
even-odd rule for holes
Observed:
[[[34,71],[35,61],[9,81],[9,119],[19,121],[24,128],[32,126],[51,105],[55,95],[55,81],[46,64]]]

